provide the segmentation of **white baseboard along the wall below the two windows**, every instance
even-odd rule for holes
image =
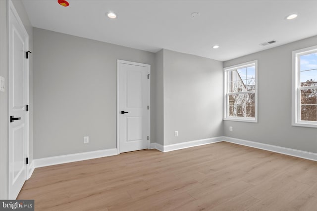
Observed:
[[[277,152],[280,154],[290,155],[294,157],[304,158],[304,159],[308,159],[312,161],[317,161],[317,153],[313,153],[313,152],[280,147],[280,146],[264,144],[264,143],[254,142],[254,141],[247,141],[247,140],[231,138],[226,136],[223,137],[223,141],[234,143],[234,144],[240,144],[240,145],[244,145],[248,147],[263,149],[263,150],[267,150],[271,152]]]

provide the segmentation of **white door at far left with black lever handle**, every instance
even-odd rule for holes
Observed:
[[[28,34],[9,2],[9,199],[16,199],[27,179]]]

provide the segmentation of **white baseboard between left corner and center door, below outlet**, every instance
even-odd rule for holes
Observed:
[[[94,158],[102,158],[102,157],[112,156],[112,155],[117,155],[116,148],[34,159],[33,163],[35,168],[39,168],[39,167],[65,164],[65,163],[76,162],[76,161],[84,161],[84,160],[89,160]]]

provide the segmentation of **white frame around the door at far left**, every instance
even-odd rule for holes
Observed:
[[[13,16],[15,16],[15,18],[17,19],[18,21],[18,24],[20,25],[25,37],[26,37],[26,41],[25,41],[25,50],[28,51],[29,50],[29,35],[22,23],[22,20],[18,14],[18,12],[16,11],[14,5],[13,5],[13,2],[12,0],[8,0],[8,5],[7,5],[7,24],[8,24],[8,32],[7,32],[7,42],[8,42],[8,80],[7,80],[7,105],[8,105],[8,115],[10,116],[10,94],[12,93],[12,90],[10,89],[10,80],[11,80],[11,73],[12,73],[12,45],[11,45],[11,33],[10,32],[10,26],[11,26],[11,18]],[[12,13],[11,13],[12,12]],[[29,105],[29,60],[28,59],[24,59],[24,68],[25,68],[25,98],[26,98],[26,104]],[[10,118],[8,118],[9,120]],[[11,171],[11,165],[9,163],[9,159],[10,159],[10,156],[11,156],[11,150],[9,149],[10,147],[10,139],[11,139],[11,135],[10,135],[10,123],[8,123],[8,127],[7,127],[7,131],[8,131],[8,166],[7,166],[7,169],[8,169],[8,172],[7,172],[7,176],[8,176],[8,182],[11,181],[10,179],[10,171]],[[26,112],[26,115],[25,115],[25,127],[26,127],[26,138],[25,138],[25,143],[24,143],[24,149],[25,149],[25,156],[26,158],[29,158],[29,134],[30,134],[30,129],[29,129],[29,112]],[[25,181],[27,179],[29,179],[29,165],[27,165],[26,163],[24,164],[24,168],[25,168]],[[7,189],[8,193],[7,193],[7,196],[10,197],[10,183],[8,184],[8,189]]]

